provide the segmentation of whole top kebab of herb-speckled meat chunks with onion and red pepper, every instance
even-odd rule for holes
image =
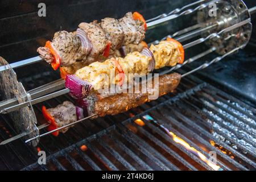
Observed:
[[[101,55],[108,57],[123,43],[139,44],[144,39],[146,26],[142,19],[134,20],[133,15],[127,13],[120,20],[105,18],[101,23],[80,23],[76,32],[56,32],[53,41],[47,41],[38,52],[55,70],[60,65],[70,66],[77,61],[88,65]]]

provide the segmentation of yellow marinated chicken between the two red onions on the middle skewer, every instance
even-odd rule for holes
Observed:
[[[148,67],[152,61],[152,57],[142,55],[139,52],[129,53],[125,58],[118,57],[104,61],[103,63],[94,62],[87,67],[79,69],[75,76],[81,80],[85,80],[93,85],[94,90],[104,88],[110,84],[119,84],[123,73],[122,81],[129,81],[129,73],[139,73],[146,75]],[[115,69],[121,67],[122,71],[115,72]],[[114,71],[114,73],[113,73]],[[112,78],[112,74],[114,78]],[[107,79],[106,79],[107,77]],[[67,80],[67,79],[66,79]],[[68,83],[66,81],[66,83]]]

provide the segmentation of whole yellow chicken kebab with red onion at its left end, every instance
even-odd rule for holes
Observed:
[[[102,63],[94,62],[79,69],[75,75],[67,76],[65,86],[69,88],[69,94],[73,98],[84,98],[90,92],[109,89],[112,85],[122,86],[153,69],[183,63],[184,49],[176,40],[163,40],[150,49],[144,48],[141,53],[129,53],[124,59],[118,57]]]

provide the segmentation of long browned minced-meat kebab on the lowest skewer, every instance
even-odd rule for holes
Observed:
[[[181,75],[172,73],[159,77],[159,96],[172,92],[180,83]],[[153,87],[154,88],[154,87]],[[156,88],[158,89],[158,88]],[[153,93],[154,89],[147,93],[121,93],[114,96],[103,98],[95,102],[94,113],[101,117],[105,115],[115,115],[123,113],[131,108],[143,105],[148,102],[149,94]]]

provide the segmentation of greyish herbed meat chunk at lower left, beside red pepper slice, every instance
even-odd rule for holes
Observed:
[[[47,109],[48,113],[55,118],[58,127],[77,121],[76,106],[72,102],[65,101],[54,108]],[[62,133],[68,131],[68,127],[60,130]]]

